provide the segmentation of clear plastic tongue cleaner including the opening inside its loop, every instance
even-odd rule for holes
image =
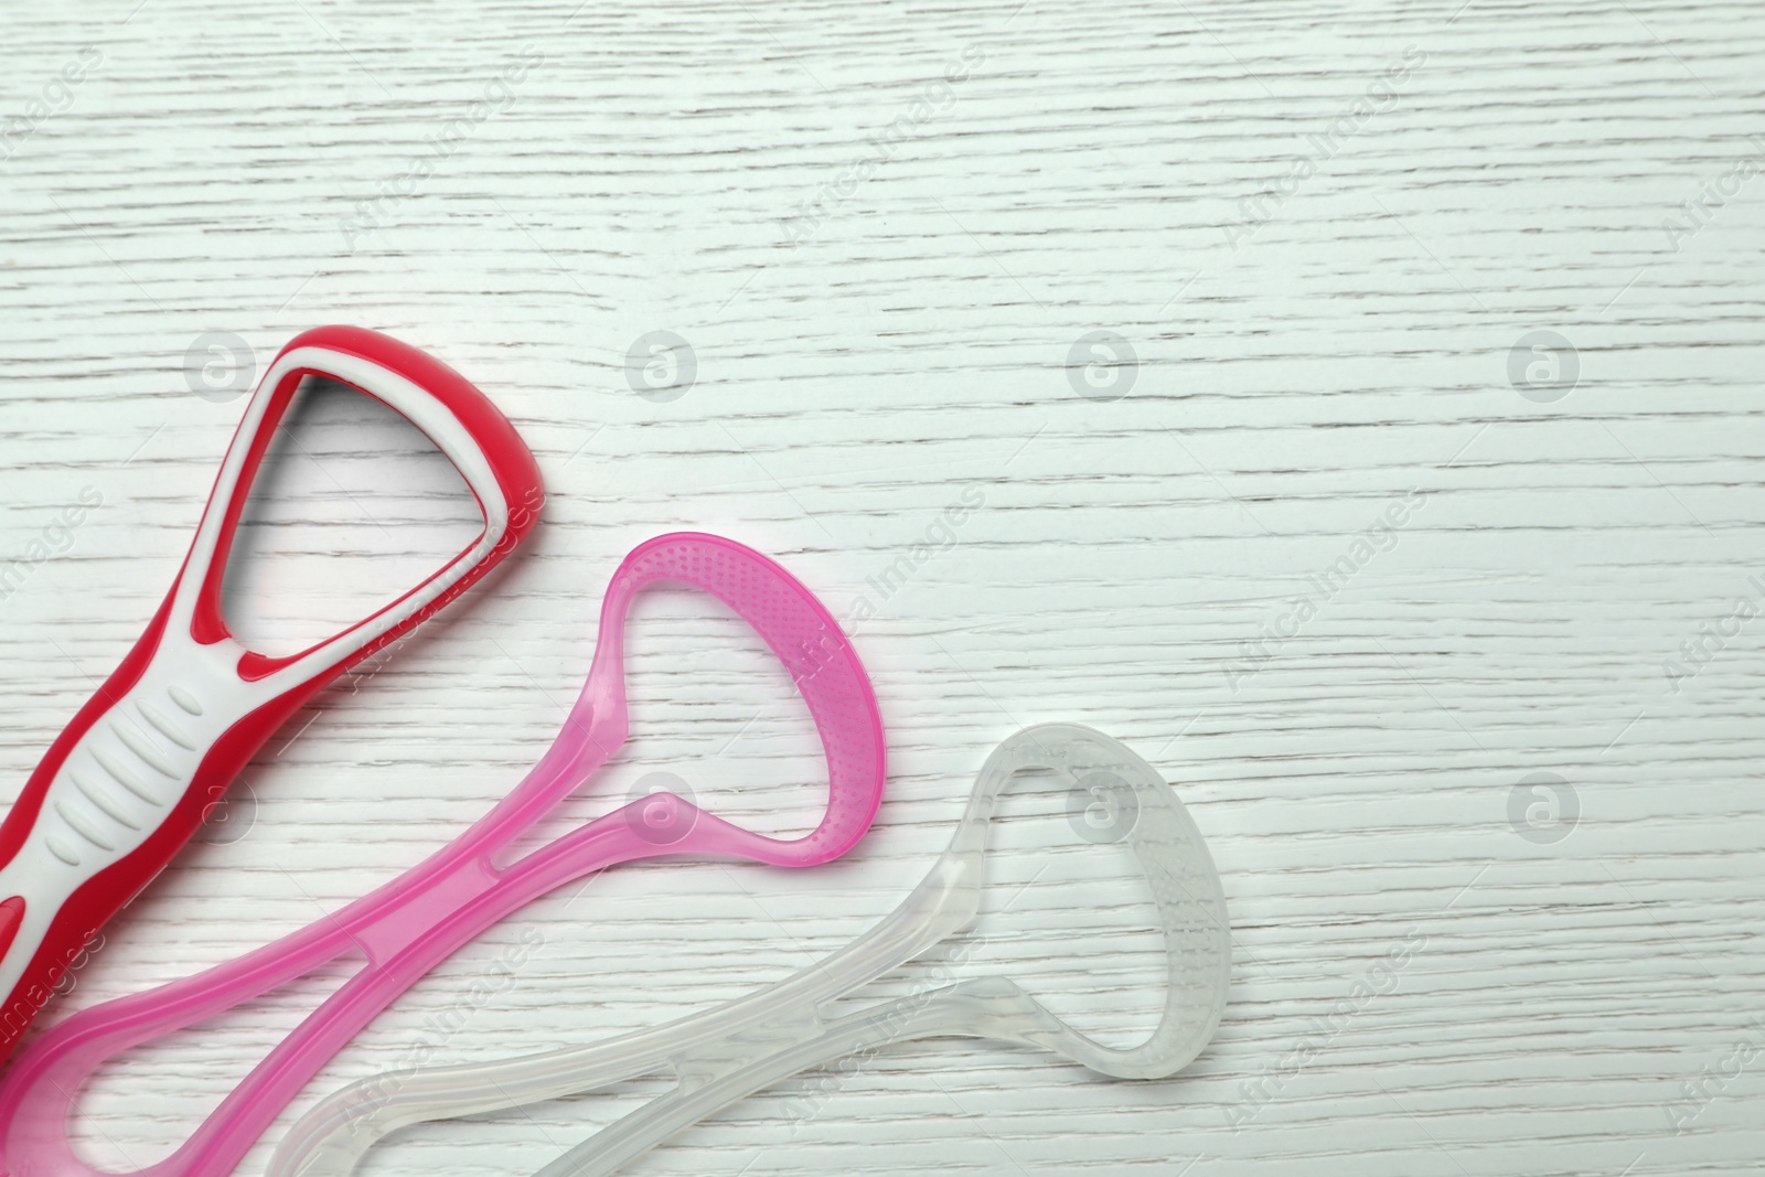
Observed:
[[[1213,1038],[1228,974],[1220,877],[1172,789],[1108,736],[1043,723],[994,750],[950,849],[844,949],[653,1031],[362,1080],[302,1117],[268,1173],[342,1177],[406,1124],[672,1073],[665,1096],[540,1170],[614,1173],[748,1094],[921,1038],[990,1038],[1161,1078]]]

